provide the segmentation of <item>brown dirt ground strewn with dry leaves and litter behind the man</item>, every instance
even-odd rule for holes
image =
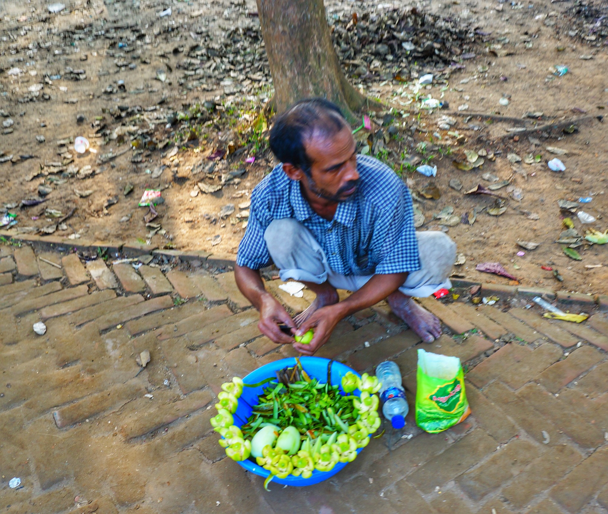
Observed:
[[[256,125],[258,114],[272,94],[255,2],[64,3],[66,9],[58,14],[50,13],[47,2],[39,0],[0,4],[0,121],[4,122],[0,202],[17,214],[15,231],[36,232],[49,226],[47,230],[53,231],[75,207],[54,235],[106,241],[138,238],[169,248],[234,254],[244,233],[248,196],[274,164],[269,151],[263,150],[263,134],[255,131],[263,130]],[[377,16],[413,6],[407,1],[326,2],[328,16],[336,24],[356,12],[374,27]],[[168,7],[171,15],[159,16]],[[511,179],[509,186],[496,190],[506,199],[503,214],[492,216],[483,210],[472,225],[443,225],[466,257],[463,265],[455,266],[459,276],[508,283],[509,279],[475,271],[477,263],[500,262],[524,285],[553,287],[553,270],[558,269],[565,290],[607,293],[606,248],[582,241],[576,248],[582,260],[577,261],[555,241],[565,228],[566,215],[582,236],[588,227],[608,228],[604,223],[608,136],[598,119],[608,102],[606,20],[601,18],[608,14],[608,6],[455,0],[424,2],[418,9],[437,13],[472,36],[460,45],[456,65],[448,72],[437,63],[434,69],[425,69],[414,57],[406,60],[415,70],[408,82],[372,72],[375,62],[368,63],[365,80],[358,79],[352,74],[355,61],[344,50],[341,55],[353,83],[385,103],[385,114],[393,118],[390,137],[388,126],[381,129],[387,133],[385,150],[373,144],[384,139],[381,134],[361,131],[359,139],[368,136],[371,153],[379,152],[408,181],[425,217],[421,230],[442,229],[440,223],[446,221],[434,215],[446,207],[465,219],[474,207],[496,207],[493,196],[463,194],[477,184],[495,183],[482,175],[489,172],[499,181]],[[441,23],[436,27],[441,30]],[[390,27],[386,30],[390,32]],[[437,38],[434,42],[437,47],[443,44]],[[218,52],[227,57],[215,57]],[[193,55],[204,55],[205,64],[198,67]],[[567,74],[556,77],[555,64],[567,66]],[[418,101],[409,102],[407,94],[414,94],[412,86],[426,71],[435,73],[435,82],[421,88],[419,96],[432,94],[448,102],[448,107],[418,109]],[[499,103],[502,98],[509,100],[508,105]],[[195,104],[200,106],[198,132],[184,134],[179,113],[192,116]],[[536,116],[523,120],[525,113]],[[438,127],[443,116],[453,117],[456,123]],[[382,120],[382,113],[374,118]],[[578,131],[567,134],[562,126],[520,136],[508,131],[568,120]],[[36,136],[44,136],[44,142]],[[97,153],[80,156],[71,140],[58,143],[75,136],[88,137]],[[515,136],[519,141],[514,141]],[[261,149],[256,147],[259,142]],[[416,152],[420,142],[426,147]],[[553,155],[547,147],[568,153]],[[179,150],[176,154],[174,148]],[[458,170],[452,161],[466,162],[465,150],[485,150],[484,164]],[[522,161],[512,164],[511,153]],[[539,162],[526,164],[529,154],[540,156]],[[9,156],[12,160],[6,159]],[[215,160],[209,159],[214,156]],[[252,156],[255,162],[248,164],[246,159]],[[424,198],[421,191],[429,178],[407,167],[416,158],[430,158],[430,164],[437,165],[432,182],[440,192],[438,200]],[[564,172],[549,170],[547,161],[553,158],[564,162]],[[219,184],[222,174],[223,189],[199,192],[197,182]],[[449,186],[454,179],[461,182],[460,190]],[[133,190],[125,195],[128,184]],[[13,207],[21,200],[38,198],[40,186],[47,193],[44,203]],[[162,189],[164,203],[157,207],[159,216],[146,226],[143,216],[148,209],[137,203],[148,188]],[[583,225],[576,214],[558,207],[558,200],[578,203],[585,197],[592,201],[579,203],[578,210],[597,218],[595,223]],[[235,212],[219,218],[226,204],[234,204]],[[45,209],[60,214],[53,218],[53,212]],[[540,245],[518,256],[523,249],[517,240]]]

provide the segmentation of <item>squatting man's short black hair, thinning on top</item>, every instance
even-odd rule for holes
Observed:
[[[269,137],[272,153],[281,162],[288,162],[310,176],[312,162],[304,143],[313,133],[333,136],[349,127],[344,114],[333,102],[324,98],[307,98],[294,103],[278,116]]]

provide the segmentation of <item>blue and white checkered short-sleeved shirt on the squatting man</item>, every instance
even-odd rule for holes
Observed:
[[[413,223],[412,197],[406,184],[387,165],[357,156],[361,177],[357,191],[340,202],[333,220],[311,209],[300,184],[279,164],[255,186],[247,230],[238,247],[237,264],[251,269],[268,266],[271,256],[264,231],[271,221],[295,218],[319,242],[334,273],[371,275],[420,269]]]

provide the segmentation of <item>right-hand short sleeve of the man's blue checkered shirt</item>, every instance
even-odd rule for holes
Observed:
[[[384,240],[376,274],[409,273],[420,269],[412,197],[405,184],[400,193],[401,201],[393,212],[376,221],[376,228]]]

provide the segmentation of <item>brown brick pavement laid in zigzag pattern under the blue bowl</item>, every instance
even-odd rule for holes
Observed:
[[[330,481],[267,493],[209,419],[223,381],[294,352],[261,336],[232,273],[166,261],[1,247],[0,513],[608,513],[603,314],[425,299],[444,335],[424,346],[384,304],[351,316],[319,355],[359,371],[395,359],[412,408],[418,347],[458,356],[472,415],[430,435],[410,413],[409,439],[389,429]],[[291,311],[310,299],[277,284]]]

